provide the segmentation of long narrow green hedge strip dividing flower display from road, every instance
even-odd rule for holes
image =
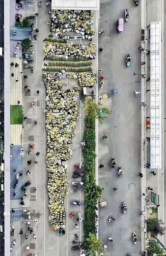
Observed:
[[[86,101],[86,118],[85,118],[85,132],[84,141],[86,147],[84,150],[84,163],[85,163],[85,222],[84,222],[84,234],[85,234],[85,246],[89,248],[89,236],[95,234],[95,207],[98,204],[98,199],[101,198],[102,190],[100,186],[96,185],[95,181],[95,147],[96,147],[96,135],[95,135],[95,120],[96,120],[96,103],[92,99]]]

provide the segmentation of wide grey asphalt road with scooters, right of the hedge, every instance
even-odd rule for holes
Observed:
[[[124,24],[124,31],[116,31],[116,21],[124,17],[128,8],[130,18]],[[112,110],[99,125],[99,184],[104,187],[103,198],[108,206],[99,210],[99,237],[108,246],[108,255],[140,255],[141,242],[132,242],[132,232],[141,239],[141,97],[135,96],[134,91],[141,91],[141,55],[137,48],[141,44],[141,6],[135,7],[134,1],[104,1],[100,2],[99,30],[104,34],[99,38],[99,68],[105,76],[103,89],[99,95],[106,93],[108,100],[101,100],[104,106]],[[129,53],[132,62],[126,67],[125,57]],[[139,75],[134,75],[133,73]],[[118,90],[113,96],[112,89]],[[107,139],[103,140],[103,134]],[[110,167],[110,160],[115,157],[117,166]],[[118,166],[124,171],[119,178],[116,171]],[[114,191],[118,187],[118,192]],[[122,202],[127,203],[128,211],[122,214]],[[116,221],[107,222],[108,216],[113,215]],[[110,243],[108,237],[114,241]]]

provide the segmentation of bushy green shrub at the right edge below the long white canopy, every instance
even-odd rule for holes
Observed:
[[[151,233],[152,237],[157,237],[158,235],[163,236],[165,227],[163,227],[162,220],[148,219],[147,231]]]

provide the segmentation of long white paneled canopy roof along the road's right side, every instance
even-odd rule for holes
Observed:
[[[150,166],[161,168],[161,22],[150,23]]]

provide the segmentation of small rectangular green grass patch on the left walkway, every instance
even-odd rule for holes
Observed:
[[[10,124],[22,124],[22,105],[10,105]]]

